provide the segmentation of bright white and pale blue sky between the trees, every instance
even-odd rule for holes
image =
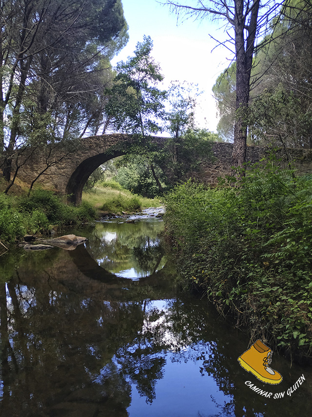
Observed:
[[[224,23],[194,18],[177,22],[169,7],[156,0],[122,0],[122,4],[129,26],[129,42],[112,60],[112,65],[133,56],[137,42],[142,42],[144,35],[150,36],[154,45],[152,56],[164,76],[163,88],[176,80],[198,84],[204,92],[197,99],[197,125],[216,132],[218,119],[212,87],[233,56],[224,46],[217,46],[210,35],[224,41]]]

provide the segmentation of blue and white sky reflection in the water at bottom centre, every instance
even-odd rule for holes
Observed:
[[[132,399],[127,412],[130,417],[221,416],[223,414],[220,414],[220,405],[230,403],[233,398],[230,395],[224,395],[213,375],[203,372],[204,362],[212,354],[210,343],[201,340],[197,343],[187,343],[186,340],[176,339],[177,335],[172,332],[170,326],[170,305],[173,302],[175,299],[146,300],[142,305],[146,314],[141,333],[143,345],[134,343],[128,346],[127,354],[135,357],[135,352],[144,347],[145,332],[147,332],[148,338],[151,331],[153,332],[152,329],[157,325],[167,327],[167,330],[162,334],[162,339],[156,342],[160,346],[167,345],[167,349],[158,352],[152,351],[148,356],[150,360],[156,357],[165,360],[162,368],[163,375],[156,380],[155,398],[152,403],[147,402],[146,396],[137,391],[136,383],[131,383],[131,380],[128,379],[131,383]],[[150,316],[154,310],[156,314],[160,314],[156,321]],[[170,340],[174,339],[174,344],[180,348],[176,351],[170,350]],[[120,370],[122,358],[115,356],[113,361]],[[133,366],[135,365],[134,363]]]

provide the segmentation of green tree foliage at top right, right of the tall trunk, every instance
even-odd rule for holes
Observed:
[[[257,140],[312,148],[311,28],[311,2],[290,1],[268,35],[273,40],[256,57],[262,80],[253,93],[250,126]]]

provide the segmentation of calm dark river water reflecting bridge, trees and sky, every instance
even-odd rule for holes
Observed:
[[[249,338],[183,291],[147,214],[0,257],[0,416],[312,416],[311,368],[274,352],[280,384],[242,369]]]

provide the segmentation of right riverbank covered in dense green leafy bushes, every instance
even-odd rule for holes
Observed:
[[[252,340],[311,359],[312,180],[254,171],[240,188],[190,182],[167,200],[180,274]]]

